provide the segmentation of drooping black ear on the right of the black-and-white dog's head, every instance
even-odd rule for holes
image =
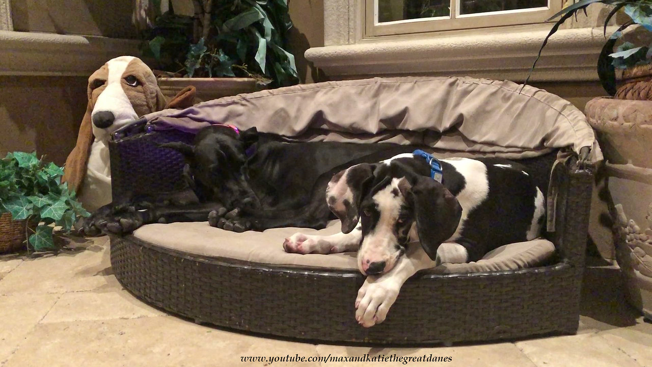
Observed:
[[[439,245],[451,238],[460,223],[460,202],[444,185],[429,177],[418,176],[412,183],[402,178],[398,187],[414,210],[421,246],[430,259],[436,259]]]

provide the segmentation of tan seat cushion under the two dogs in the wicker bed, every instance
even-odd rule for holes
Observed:
[[[140,227],[134,236],[158,246],[177,249],[197,255],[228,257],[253,263],[314,266],[357,271],[356,253],[331,255],[299,255],[286,253],[286,237],[305,234],[335,234],[340,231],[340,221],[331,221],[325,229],[316,231],[304,228],[276,228],[264,232],[235,233],[210,227],[207,222],[151,224]],[[441,264],[435,271],[485,272],[491,270],[520,269],[537,266],[549,259],[555,251],[548,240],[533,240],[498,247],[477,263]]]

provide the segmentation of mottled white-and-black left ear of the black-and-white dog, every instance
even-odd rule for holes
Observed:
[[[342,232],[353,231],[358,224],[359,208],[374,178],[376,165],[361,163],[336,173],[326,189],[326,202],[342,221]]]

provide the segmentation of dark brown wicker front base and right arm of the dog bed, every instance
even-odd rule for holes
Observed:
[[[550,169],[552,155],[523,163]],[[111,238],[116,278],[141,300],[198,323],[323,342],[432,343],[574,333],[578,327],[592,174],[557,165],[557,248],[550,266],[409,279],[384,323],[355,321],[364,277],[331,270],[207,257]],[[544,176],[545,177],[545,176]],[[309,256],[309,255],[306,255]]]

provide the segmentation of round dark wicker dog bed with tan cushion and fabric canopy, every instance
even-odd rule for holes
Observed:
[[[472,78],[375,78],[225,97],[147,115],[117,132],[110,145],[113,197],[179,189],[183,157],[155,142],[188,141],[209,123],[255,125],[288,140],[391,141],[426,144],[442,156],[520,159],[548,192],[549,231],[477,263],[420,272],[402,287],[384,323],[363,328],[353,303],[364,277],[352,254],[282,253],[282,239],[297,229],[237,234],[201,222],[147,225],[111,238],[116,278],[145,302],[200,323],[324,342],[576,332],[592,169],[602,157],[584,115],[567,101]]]

